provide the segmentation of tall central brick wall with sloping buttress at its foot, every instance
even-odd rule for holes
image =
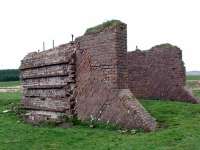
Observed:
[[[76,111],[81,120],[152,131],[156,122],[128,89],[126,25],[76,40]]]

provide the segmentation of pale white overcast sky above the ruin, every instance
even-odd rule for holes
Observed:
[[[200,70],[199,0],[0,0],[0,69],[32,51],[67,43],[107,20],[128,24],[128,51],[171,43],[187,71]]]

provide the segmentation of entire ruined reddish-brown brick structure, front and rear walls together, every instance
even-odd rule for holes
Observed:
[[[179,48],[165,44],[127,53],[126,24],[94,29],[22,60],[27,122],[62,122],[67,116],[152,131],[155,119],[134,96],[199,102],[184,88]]]

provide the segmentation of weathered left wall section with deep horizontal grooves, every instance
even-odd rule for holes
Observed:
[[[30,53],[21,62],[22,105],[26,120],[61,121],[74,112],[75,46],[64,44],[55,49]]]

